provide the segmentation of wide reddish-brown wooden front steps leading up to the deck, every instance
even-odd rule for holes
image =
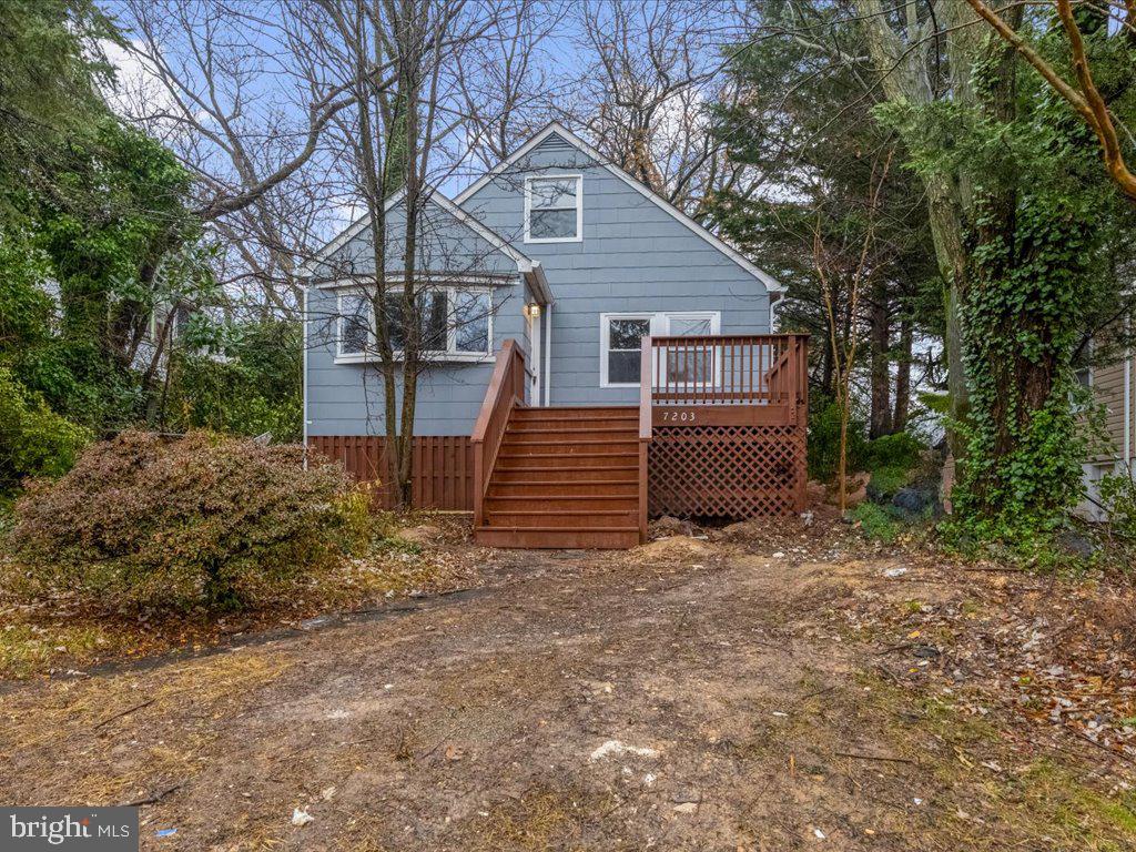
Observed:
[[[633,406],[513,407],[488,475],[477,542],[495,548],[638,544],[638,425]]]

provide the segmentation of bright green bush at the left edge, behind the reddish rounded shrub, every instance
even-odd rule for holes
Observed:
[[[25,477],[66,474],[90,433],[55,414],[0,367],[0,494]]]

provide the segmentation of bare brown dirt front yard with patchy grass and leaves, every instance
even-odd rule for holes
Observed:
[[[145,802],[143,849],[194,852],[1136,846],[1131,595],[1110,580],[799,521],[481,569],[10,683],[0,801]]]

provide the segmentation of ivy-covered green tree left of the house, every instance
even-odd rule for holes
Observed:
[[[56,181],[66,200],[40,200],[31,243],[58,285],[65,361],[90,392],[58,402],[102,428],[145,419],[170,336],[151,324],[154,309],[211,293],[194,250],[190,175],[157,141],[106,116]]]

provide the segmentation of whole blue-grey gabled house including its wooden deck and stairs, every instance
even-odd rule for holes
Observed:
[[[627,546],[649,512],[800,510],[807,341],[770,334],[782,286],[740,252],[557,123],[421,220],[437,343],[416,504],[473,510],[479,540],[518,546]],[[365,217],[306,268],[304,424],[382,478],[370,239]]]

